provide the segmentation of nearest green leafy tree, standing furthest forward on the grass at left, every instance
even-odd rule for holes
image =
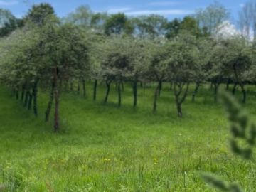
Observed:
[[[46,110],[46,121],[51,105],[55,101],[54,130],[60,130],[59,104],[60,87],[63,81],[70,78],[82,78],[88,70],[88,48],[84,33],[71,24],[58,25],[53,18],[41,29],[41,38],[45,42],[45,55],[48,60],[45,79],[51,80],[50,100]]]

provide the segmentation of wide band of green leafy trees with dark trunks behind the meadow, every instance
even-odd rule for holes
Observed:
[[[105,82],[107,102],[112,84],[117,85],[118,106],[122,89],[131,84],[133,106],[137,107],[138,85],[157,82],[153,112],[162,84],[173,90],[178,117],[191,84],[210,82],[217,102],[220,84],[233,93],[240,87],[246,102],[245,86],[255,84],[255,43],[242,35],[223,38],[219,26],[228,11],[218,3],[193,16],[168,21],[164,16],[129,18],[125,14],[93,13],[80,6],[66,18],[58,18],[50,4],[34,5],[26,16],[16,19],[0,10],[0,80],[14,91],[24,107],[38,114],[38,87],[49,91],[46,122],[54,105],[54,130],[60,129],[60,90],[82,90],[94,81]],[[76,85],[76,86],[74,86]]]

